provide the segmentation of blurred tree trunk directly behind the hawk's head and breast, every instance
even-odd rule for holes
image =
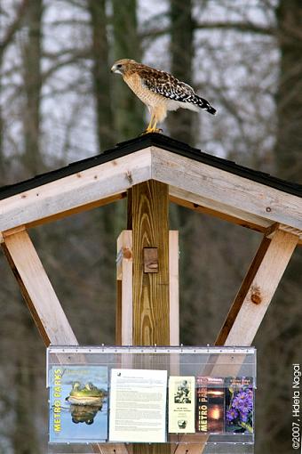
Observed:
[[[141,60],[138,36],[137,0],[112,0],[114,16],[114,60],[130,58]],[[118,141],[139,135],[144,128],[144,107],[123,81],[115,77],[115,128]]]

